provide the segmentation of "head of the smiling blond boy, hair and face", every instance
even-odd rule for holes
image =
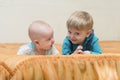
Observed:
[[[85,11],[75,11],[67,20],[68,37],[74,44],[82,44],[93,28],[93,18]]]

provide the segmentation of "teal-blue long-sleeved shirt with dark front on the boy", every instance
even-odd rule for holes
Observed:
[[[79,44],[73,44],[68,37],[65,37],[63,44],[62,44],[62,54],[63,55],[70,55],[72,54]],[[90,51],[91,54],[101,54],[102,50],[98,42],[98,38],[94,35],[94,31],[87,37],[82,44],[83,51]]]

